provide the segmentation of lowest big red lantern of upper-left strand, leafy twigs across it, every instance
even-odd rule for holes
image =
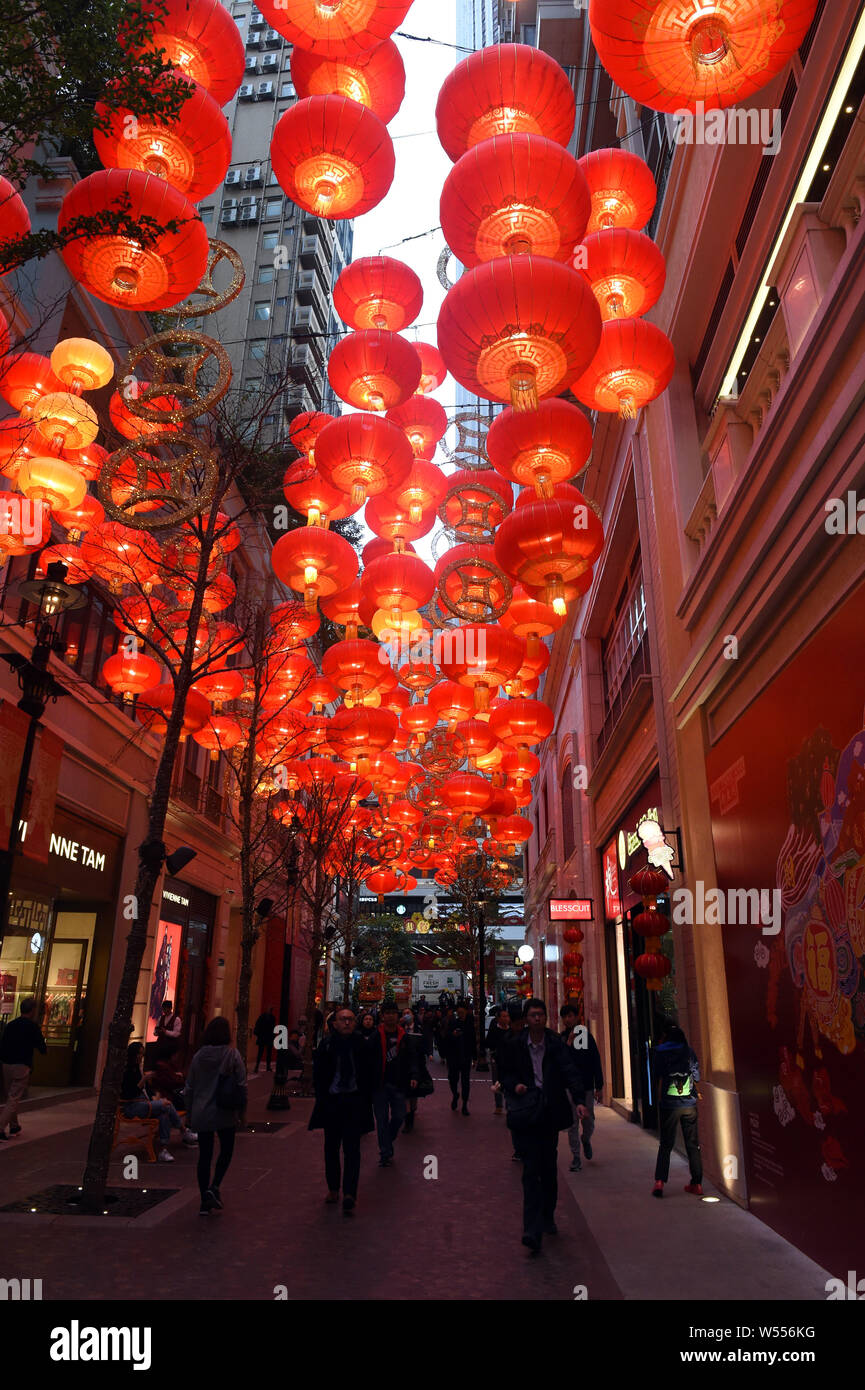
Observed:
[[[163,231],[149,246],[121,232],[79,236],[63,247],[67,270],[86,291],[118,309],[150,311],[179,304],[202,281],[210,243],[189,199],[164,179],[139,170],[90,174],[64,197],[57,231],[64,232],[76,217],[121,211],[134,221],[179,225],[175,232]]]

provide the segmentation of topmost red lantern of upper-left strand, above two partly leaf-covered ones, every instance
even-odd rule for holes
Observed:
[[[146,7],[149,8],[149,7]],[[217,106],[231,101],[243,81],[243,40],[220,0],[160,0],[147,51],[199,82]],[[143,51],[143,50],[139,50]]]

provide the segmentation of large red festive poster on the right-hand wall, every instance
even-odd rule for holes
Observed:
[[[706,760],[719,888],[768,909],[723,927],[752,1211],[829,1269],[865,1238],[864,673],[858,595]]]

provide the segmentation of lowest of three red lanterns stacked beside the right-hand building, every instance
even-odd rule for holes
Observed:
[[[666,391],[676,354],[666,334],[645,318],[613,318],[585,371],[572,385],[590,410],[634,420],[642,406]]]

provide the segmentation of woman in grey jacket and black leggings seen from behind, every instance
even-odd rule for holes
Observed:
[[[224,1205],[221,1187],[234,1154],[241,1116],[246,1109],[246,1068],[231,1045],[228,1019],[211,1019],[202,1034],[202,1045],[192,1058],[186,1077],[189,1123],[199,1137],[199,1215],[209,1216]],[[216,1138],[220,1156],[211,1177]]]

